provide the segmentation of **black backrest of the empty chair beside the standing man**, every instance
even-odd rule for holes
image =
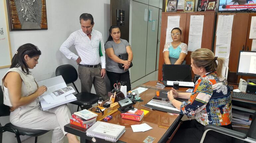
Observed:
[[[78,78],[76,69],[70,64],[64,64],[57,67],[55,74],[56,76],[62,75],[66,84],[73,83]]]

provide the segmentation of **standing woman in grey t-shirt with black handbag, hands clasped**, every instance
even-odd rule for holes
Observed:
[[[118,26],[112,25],[109,28],[109,37],[105,44],[105,52],[107,54],[106,71],[110,80],[111,89],[118,82],[126,82],[127,91],[131,90],[129,66],[132,62],[133,54],[130,44],[121,39],[121,32]],[[119,54],[128,54],[128,60],[122,60],[118,57]],[[118,63],[124,64],[124,69],[118,67]]]

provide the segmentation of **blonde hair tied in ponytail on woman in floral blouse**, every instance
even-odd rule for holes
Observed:
[[[193,64],[199,68],[205,68],[206,72],[217,71],[218,77],[221,76],[224,58],[215,57],[211,50],[200,48],[192,52],[190,55]],[[218,61],[218,64],[216,62]]]

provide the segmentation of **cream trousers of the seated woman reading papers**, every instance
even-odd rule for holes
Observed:
[[[67,105],[57,106],[47,111],[42,111],[41,106],[38,107],[20,107],[10,115],[10,121],[13,125],[31,128],[52,130],[52,143],[63,143],[64,125],[70,123],[71,113]]]

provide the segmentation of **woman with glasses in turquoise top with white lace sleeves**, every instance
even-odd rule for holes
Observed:
[[[176,27],[171,31],[173,42],[168,42],[164,47],[165,64],[186,64],[188,45],[181,42],[181,29]]]

